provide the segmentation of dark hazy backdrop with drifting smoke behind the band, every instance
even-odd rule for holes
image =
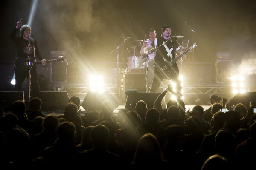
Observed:
[[[28,23],[32,2],[1,1],[1,90],[12,88],[16,53],[9,35],[20,18]],[[40,0],[32,37],[44,59],[50,59],[50,51],[65,51],[70,63],[77,62],[77,75],[88,68],[92,71],[89,66],[116,62],[116,51],[110,53],[122,43],[122,34],[140,40],[154,28],[160,36],[160,27],[166,24],[172,27],[172,35],[185,36],[189,45],[197,43],[194,62],[211,62],[217,51],[227,51],[233,64],[239,65],[244,56],[255,59],[255,7],[254,0]],[[185,26],[186,20],[196,33]],[[138,44],[127,40],[124,47],[133,45]],[[127,62],[125,50],[120,47],[119,52],[120,62]],[[116,66],[111,64],[109,68]],[[40,65],[38,73],[47,67]]]

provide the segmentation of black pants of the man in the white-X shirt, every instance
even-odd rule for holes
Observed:
[[[177,94],[179,96],[182,96],[181,81],[179,79],[179,76],[180,76],[180,74],[179,74],[178,65],[177,65],[177,63],[174,63],[173,66],[172,66],[172,73],[170,74],[169,79],[176,82]],[[164,79],[165,78],[162,76],[162,74],[157,70],[157,68],[155,68],[154,69],[154,77],[153,77],[152,85],[151,85],[151,88],[150,88],[150,92],[157,92],[159,86],[161,85],[161,83]]]

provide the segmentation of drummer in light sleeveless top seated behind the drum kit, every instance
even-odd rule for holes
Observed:
[[[141,54],[142,56],[145,55],[143,49],[144,49],[146,46],[151,45],[152,42],[155,43],[155,47],[157,46],[157,38],[156,38],[157,33],[156,33],[156,31],[155,31],[153,28],[151,28],[151,29],[149,30],[148,36],[149,36],[149,38],[148,38],[147,40],[144,40],[144,41],[147,41],[147,42],[144,42],[143,45],[142,45],[142,47],[141,47],[141,49],[140,49],[140,54]],[[146,39],[146,37],[145,37],[145,39]],[[148,53],[147,53],[147,54],[148,54]],[[149,56],[148,56],[148,57],[149,57],[149,60],[153,60],[155,56],[156,56],[156,51],[154,51],[153,53],[149,54]]]

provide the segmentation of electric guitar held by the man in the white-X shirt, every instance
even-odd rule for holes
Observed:
[[[165,79],[169,79],[170,78],[170,74],[172,73],[172,65],[182,57],[182,55],[185,55],[186,53],[188,53],[189,51],[193,50],[194,48],[196,48],[197,45],[196,43],[192,44],[190,46],[189,49],[187,49],[186,51],[184,51],[180,56],[175,57],[175,59],[173,59],[170,62],[154,62],[153,65],[155,68],[157,68],[157,70],[162,74],[162,76]]]

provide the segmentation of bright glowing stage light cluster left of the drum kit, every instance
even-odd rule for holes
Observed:
[[[104,88],[104,77],[102,75],[90,75],[90,90],[95,92],[103,92]]]

